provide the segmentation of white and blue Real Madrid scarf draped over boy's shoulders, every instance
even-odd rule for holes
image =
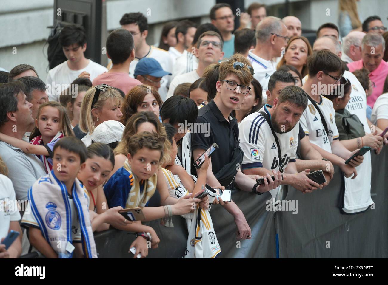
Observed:
[[[38,222],[43,237],[58,253],[59,258],[73,256],[71,221],[72,215],[78,215],[81,240],[86,258],[97,258],[92,224],[89,218],[87,193],[76,178],[71,191],[76,212],[71,212],[66,185],[50,171],[39,178],[28,190],[31,211]]]

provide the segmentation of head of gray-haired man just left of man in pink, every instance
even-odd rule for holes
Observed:
[[[346,62],[353,62],[361,59],[361,41],[365,33],[352,31],[342,38],[343,52],[341,59]]]

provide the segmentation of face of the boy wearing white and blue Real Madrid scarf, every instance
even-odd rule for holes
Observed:
[[[74,180],[81,167],[80,155],[58,147],[52,158],[55,176],[63,182]]]

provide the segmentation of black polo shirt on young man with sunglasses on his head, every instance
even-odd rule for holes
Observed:
[[[213,143],[217,143],[219,149],[215,150],[211,155],[211,170],[213,171],[213,174],[216,174],[224,165],[231,161],[232,152],[239,144],[239,127],[237,125],[237,120],[229,115],[228,122],[223,117],[214,100],[211,100],[206,106],[198,110],[197,123],[209,123],[210,135],[205,136],[208,134],[191,133],[191,149],[206,150]]]

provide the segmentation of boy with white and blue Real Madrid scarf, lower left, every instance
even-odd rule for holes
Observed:
[[[72,258],[74,250],[76,257],[97,258],[88,194],[76,178],[86,156],[78,138],[61,138],[53,149],[52,171],[28,190],[21,223],[28,228],[33,251],[47,258]]]

